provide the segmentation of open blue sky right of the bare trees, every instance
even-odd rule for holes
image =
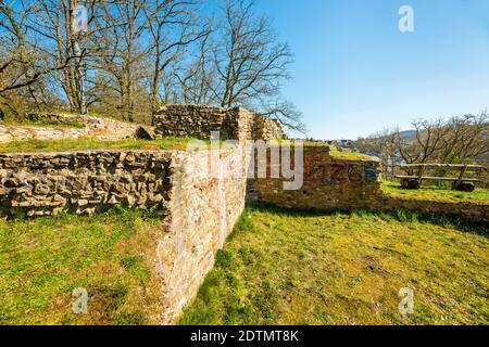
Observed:
[[[415,31],[400,33],[399,8]],[[310,136],[355,139],[489,108],[489,0],[256,0],[296,62],[285,95]]]

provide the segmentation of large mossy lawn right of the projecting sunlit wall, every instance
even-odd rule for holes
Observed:
[[[404,211],[249,207],[179,324],[489,324],[488,235]]]

